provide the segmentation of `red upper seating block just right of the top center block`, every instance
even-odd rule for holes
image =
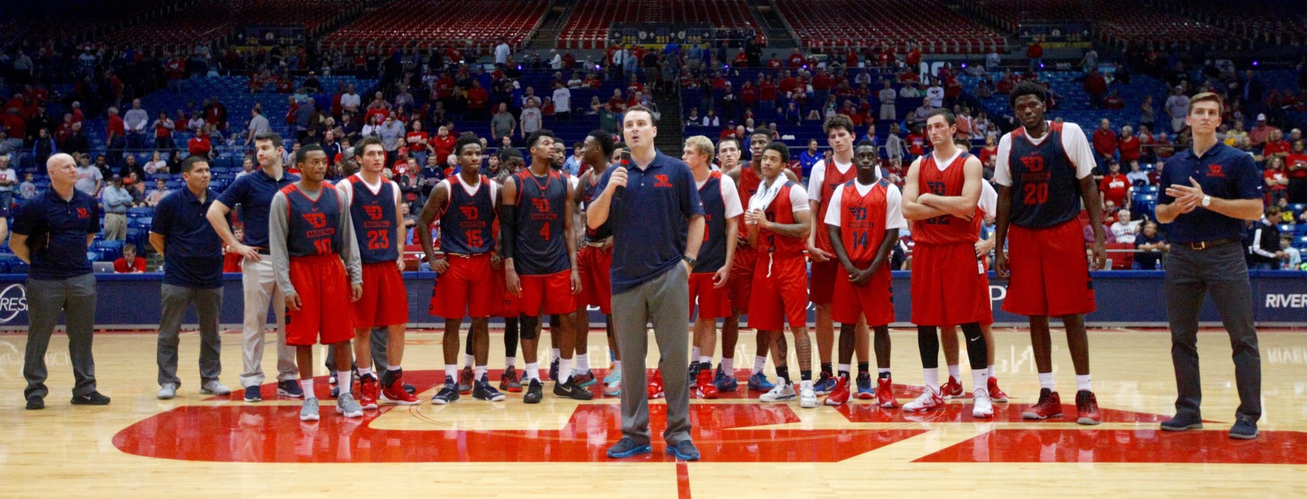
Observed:
[[[804,47],[890,43],[925,54],[987,54],[1008,50],[1006,38],[935,0],[776,0]],[[923,22],[923,16],[929,22]]]

